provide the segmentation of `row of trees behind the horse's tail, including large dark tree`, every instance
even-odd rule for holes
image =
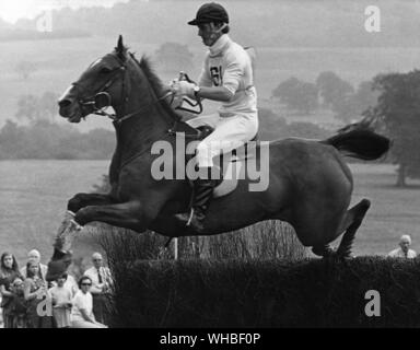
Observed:
[[[328,108],[345,122],[363,120],[387,135],[388,160],[398,165],[398,187],[420,178],[420,71],[382,73],[354,89],[334,72],[322,72],[315,83],[290,78],[272,96],[290,110],[311,114]]]

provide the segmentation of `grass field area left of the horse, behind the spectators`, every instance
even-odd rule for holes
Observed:
[[[67,200],[91,191],[107,165],[106,161],[0,162],[0,250],[11,250],[24,262],[27,252],[37,248],[48,261]],[[91,253],[83,244],[77,249],[81,255]]]

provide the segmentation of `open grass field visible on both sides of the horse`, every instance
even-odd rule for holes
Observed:
[[[52,238],[63,218],[67,200],[91,191],[107,171],[107,161],[2,161],[0,162],[0,250],[12,250],[20,261],[33,247],[47,261]],[[397,189],[395,166],[352,164],[355,186],[352,202],[370,198],[372,207],[355,237],[357,255],[386,254],[401,234],[411,234],[420,252],[420,183]],[[89,256],[83,241],[78,256]]]

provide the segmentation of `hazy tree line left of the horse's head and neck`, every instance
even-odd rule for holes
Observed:
[[[57,122],[58,95],[25,94],[18,100],[15,119],[0,129],[0,160],[103,160],[115,148],[113,131],[94,129],[81,132],[68,122]]]

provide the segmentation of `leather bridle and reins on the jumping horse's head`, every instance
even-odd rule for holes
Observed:
[[[90,95],[89,97],[80,98],[79,104],[81,104],[82,106],[92,107],[93,112],[91,114],[106,116],[109,119],[112,119],[114,122],[120,124],[120,122],[133,117],[135,115],[145,110],[147,108],[149,108],[153,104],[155,104],[162,100],[165,100],[170,96],[172,97],[172,101],[171,101],[171,104],[172,104],[172,102],[175,97],[175,93],[170,91],[166,94],[164,94],[163,96],[160,96],[156,100],[144,104],[139,109],[137,109],[132,113],[126,114],[126,109],[127,109],[126,104],[128,102],[128,96],[126,95],[126,77],[127,77],[126,62],[121,62],[121,65],[119,67],[110,70],[108,74],[110,74],[109,79],[97,90],[97,92],[93,95]],[[120,97],[120,101],[122,102],[122,117],[118,118],[116,114],[107,113],[105,110],[105,108],[110,106],[110,104],[112,104],[112,97],[110,97],[110,94],[108,93],[108,90],[118,80],[120,74],[122,74],[121,97]],[[83,86],[80,82],[73,82],[71,85],[77,88],[79,90],[80,94],[83,94],[84,92],[86,92],[89,90],[85,86]],[[107,103],[104,107],[97,106],[97,104],[98,104],[97,102],[100,98],[106,98]]]

